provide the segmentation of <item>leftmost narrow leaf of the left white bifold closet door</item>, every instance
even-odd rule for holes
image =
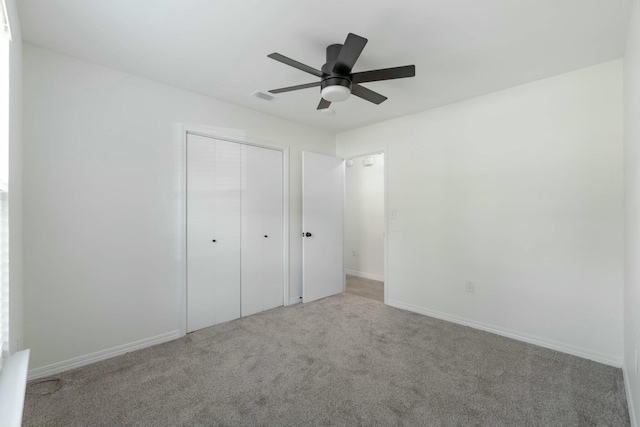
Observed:
[[[215,324],[215,143],[187,138],[187,332]]]

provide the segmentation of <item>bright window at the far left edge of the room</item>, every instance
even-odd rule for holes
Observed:
[[[0,0],[0,369],[9,352],[9,21]]]

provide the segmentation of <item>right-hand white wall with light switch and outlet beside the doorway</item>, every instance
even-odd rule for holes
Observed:
[[[391,304],[620,366],[622,138],[617,60],[342,133],[337,152],[388,147]]]

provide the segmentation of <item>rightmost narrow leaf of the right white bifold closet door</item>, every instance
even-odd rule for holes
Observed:
[[[267,238],[262,245],[262,309],[279,307],[283,303],[283,176],[282,152],[265,150],[262,156],[261,195],[262,226]]]

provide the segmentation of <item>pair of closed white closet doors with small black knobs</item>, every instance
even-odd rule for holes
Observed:
[[[282,305],[282,156],[188,135],[188,332]]]

